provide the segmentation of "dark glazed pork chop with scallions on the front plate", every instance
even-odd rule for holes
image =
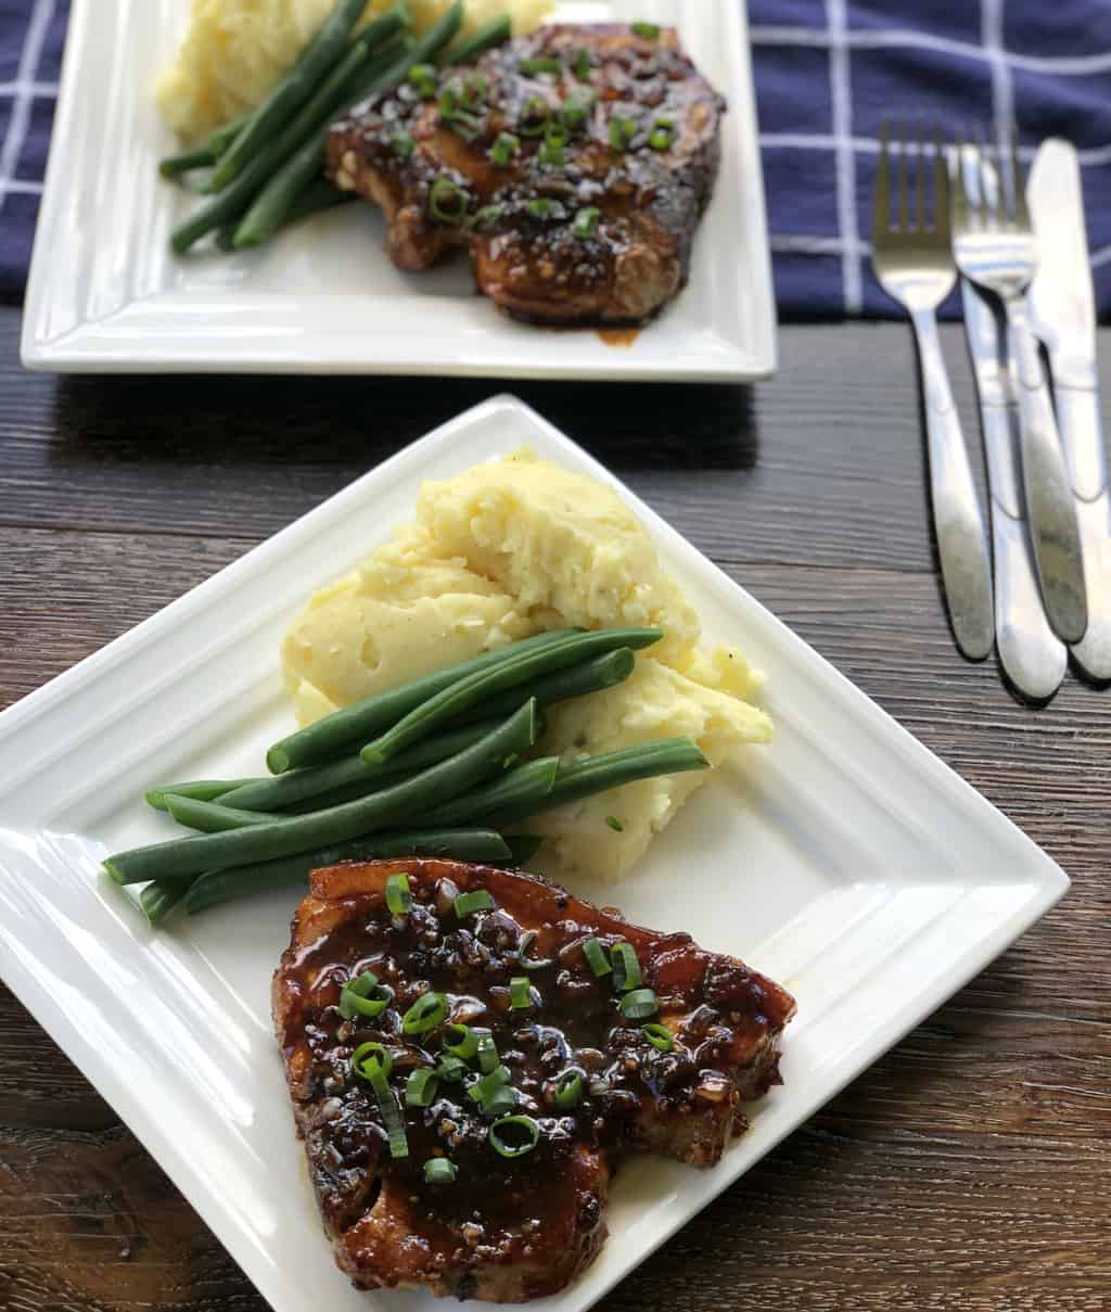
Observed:
[[[387,905],[400,872],[405,914]],[[344,985],[366,988],[366,972],[376,1014],[345,1015]],[[593,1261],[623,1153],[716,1162],[746,1126],[741,1103],[778,1082],[795,1010],[687,934],[533,875],[435,859],[315,871],[273,1002],[340,1267],[359,1287],[497,1303],[556,1294]],[[447,1060],[464,1034],[483,1047]],[[361,1051],[384,1051],[386,1084]]]

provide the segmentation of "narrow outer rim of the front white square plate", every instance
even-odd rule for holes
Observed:
[[[833,1080],[825,1082],[816,1081],[808,1094],[800,1099],[798,1107],[792,1110],[792,1114],[786,1117],[782,1124],[777,1124],[769,1134],[766,1143],[761,1145],[763,1151],[759,1156],[763,1157],[788,1134],[799,1128],[799,1126],[813,1115],[818,1107],[825,1105],[830,1098],[836,1097],[841,1089],[857,1078],[862,1071],[879,1060],[880,1056],[883,1056],[895,1043],[900,1042],[900,1039],[904,1038],[916,1025],[921,1023],[921,1021],[946,998],[951,997],[971,977],[984,970],[985,966],[1001,951],[1003,951],[1020,933],[1039,920],[1065,893],[1069,887],[1069,879],[1061,867],[1028,836],[1022,833],[1022,830],[1018,829],[1018,827],[1006,815],[1003,815],[1003,812],[992,806],[992,803],[982,798],[969,783],[956,774],[955,770],[947,766],[939,757],[930,752],[929,748],[914,739],[909,731],[899,724],[899,722],[888,715],[850,680],[841,674],[841,672],[837,670],[836,666],[833,666],[824,656],[821,656],[821,653],[809,647],[809,644],[799,638],[787,625],[779,621],[756,597],[748,593],[741,584],[729,577],[729,575],[720,569],[720,567],[710,560],[708,556],[698,551],[698,548],[694,547],[682,534],[679,534],[677,529],[672,527],[665,520],[662,520],[661,516],[658,516],[651,506],[645,505],[631,489],[628,489],[614,474],[606,470],[599,461],[519,399],[508,394],[500,394],[438,425],[422,438],[407,447],[403,447],[387,461],[383,461],[380,464],[353,480],[320,505],[279,529],[264,542],[249,548],[223,569],[197,584],[197,586],[189,589],[181,597],[169,602],[155,614],[140,621],[132,628],[105,644],[105,647],[91,653],[71,669],[56,676],[39,689],[29,693],[25,698],[0,712],[0,740],[7,740],[13,732],[18,732],[25,722],[55,707],[59,701],[64,701],[73,693],[79,691],[88,682],[88,680],[96,677],[102,668],[111,668],[119,661],[130,659],[130,655],[136,644],[139,644],[139,649],[142,649],[142,646],[148,636],[153,636],[167,628],[177,627],[180,623],[186,622],[192,610],[194,607],[203,606],[209,597],[216,597],[233,592],[237,586],[240,586],[240,576],[254,572],[260,564],[265,567],[266,556],[269,554],[278,554],[291,538],[311,534],[316,522],[329,520],[337,513],[337,510],[342,509],[345,502],[358,502],[362,497],[365,497],[366,487],[370,482],[378,482],[383,476],[388,479],[391,472],[400,472],[401,476],[404,476],[405,464],[412,463],[418,467],[425,462],[429,454],[433,454],[435,450],[450,443],[460,434],[460,432],[464,433],[471,425],[484,424],[491,419],[504,415],[514,415],[523,419],[530,428],[542,432],[544,437],[548,441],[552,441],[559,449],[573,449],[584,466],[586,466],[594,476],[602,478],[607,485],[620,488],[623,499],[648,525],[657,546],[666,544],[669,552],[679,552],[682,558],[682,571],[685,575],[687,571],[693,571],[700,575],[714,576],[715,583],[719,585],[720,583],[728,584],[731,598],[740,601],[745,610],[758,613],[765,625],[771,622],[769,631],[774,634],[775,639],[779,643],[786,644],[790,651],[803,655],[808,661],[809,668],[815,672],[815,677],[825,682],[842,705],[847,697],[851,702],[853,710],[864,714],[868,720],[876,728],[881,728],[885,735],[891,735],[892,728],[896,729],[895,741],[900,744],[904,753],[909,752],[912,757],[927,771],[931,787],[946,791],[952,800],[959,803],[961,807],[972,806],[979,815],[984,816],[997,830],[1006,832],[1011,840],[1017,836],[1031,857],[1031,865],[1027,871],[1032,886],[1031,893],[1020,904],[1020,907],[1000,921],[990,934],[977,938],[954,966],[935,975],[925,988],[921,988],[918,992],[909,996],[893,1013],[887,1015],[874,1031],[874,1042],[870,1042],[866,1048],[854,1054],[853,1059],[847,1060],[837,1071]],[[0,976],[3,976],[8,987],[12,988],[12,992],[17,996],[22,1005],[28,1008],[34,1019],[70,1056],[85,1078],[88,1078],[101,1096],[104,1096],[115,1109],[118,1101],[115,1090],[105,1090],[105,1084],[110,1084],[110,1068],[105,1065],[102,1071],[91,1069],[91,1063],[84,1060],[80,1054],[77,1056],[73,1055],[75,1038],[79,1046],[83,1043],[83,1039],[76,1023],[67,1017],[60,1002],[58,1002],[51,992],[38,981],[37,976],[29,967],[26,967],[21,960],[14,959],[3,946],[0,946],[0,967],[3,967],[0,968]],[[126,1099],[123,1101],[126,1105]],[[227,1206],[223,1198],[211,1187],[205,1185],[198,1187],[197,1177],[190,1170],[188,1156],[181,1145],[174,1145],[173,1136],[164,1132],[159,1127],[157,1118],[148,1118],[146,1113],[135,1115],[134,1109],[131,1109],[129,1115],[126,1118],[121,1115],[121,1119],[129,1127],[134,1127],[136,1123],[143,1126],[142,1132],[132,1128],[132,1132],[140,1143],[143,1143],[147,1151],[151,1152],[152,1157],[155,1157],[161,1169],[167,1172],[176,1187],[182,1193],[189,1204],[198,1212],[205,1223],[212,1229],[235,1261],[243,1266],[248,1278],[260,1290],[262,1296],[272,1302],[274,1307],[281,1307],[283,1303],[282,1269],[265,1261],[252,1261],[253,1257],[257,1258],[257,1249],[248,1241],[243,1227],[237,1221],[235,1211]],[[661,1244],[666,1242],[666,1240],[670,1239],[676,1231],[693,1219],[702,1206],[708,1204],[712,1198],[717,1197],[724,1189],[732,1185],[752,1165],[753,1162],[742,1162],[738,1160],[736,1166],[731,1168],[728,1158],[723,1161],[712,1174],[714,1187],[706,1200],[697,1206],[693,1211],[689,1210],[679,1215],[670,1215],[666,1219],[666,1223],[661,1225],[660,1233],[653,1235],[651,1242],[644,1245],[632,1261],[615,1263],[614,1270],[607,1271],[606,1277],[601,1279],[596,1287],[592,1287],[590,1299],[593,1300],[603,1296],[619,1281],[624,1279],[624,1277],[628,1275],[630,1271],[644,1260],[644,1257]],[[568,1292],[572,1292],[573,1288],[575,1287],[572,1286]],[[584,1304],[576,1303],[573,1305],[582,1307]]]

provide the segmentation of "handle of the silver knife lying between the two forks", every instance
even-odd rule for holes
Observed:
[[[1061,686],[1069,657],[1041,609],[1013,453],[1014,411],[981,405],[980,419],[992,484],[996,646],[1011,684],[1032,701],[1047,702]]]

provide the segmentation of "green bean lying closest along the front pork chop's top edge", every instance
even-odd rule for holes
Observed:
[[[492,829],[429,829],[412,833],[383,833],[355,838],[300,857],[282,857],[254,866],[212,870],[181,888],[190,916],[218,903],[249,897],[265,888],[304,887],[311,870],[337,866],[342,861],[374,861],[390,857],[451,857],[455,861],[491,861],[498,865],[510,859],[510,849],[501,834]],[[144,890],[146,892],[146,890]]]

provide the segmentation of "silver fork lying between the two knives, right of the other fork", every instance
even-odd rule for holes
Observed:
[[[992,186],[986,177],[992,164],[985,160],[988,152],[979,144],[972,150],[980,171],[979,195],[969,197],[958,169],[952,206],[954,255],[965,278],[1002,302],[1018,394],[1026,512],[1041,601],[1059,636],[1076,643],[1087,628],[1083,558],[1057,421],[1026,314],[1026,291],[1038,269],[1038,244],[1026,207],[1026,180],[1013,139],[1013,203],[1007,206],[1002,169],[994,169],[1000,185]]]

